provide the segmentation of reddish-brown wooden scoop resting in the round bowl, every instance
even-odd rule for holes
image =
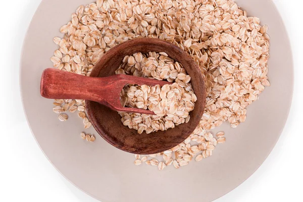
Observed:
[[[87,77],[48,68],[42,73],[40,93],[43,97],[50,99],[85,99],[98,102],[119,112],[155,115],[154,112],[149,110],[122,106],[120,93],[127,84],[163,86],[172,83],[123,74],[102,78]]]

